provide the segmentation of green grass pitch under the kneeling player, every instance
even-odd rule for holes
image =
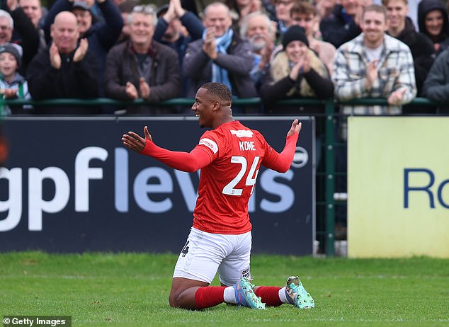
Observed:
[[[168,304],[176,255],[0,253],[0,314],[72,326],[449,326],[449,260],[253,256],[256,285],[300,278],[314,309]],[[212,285],[218,285],[215,278]]]

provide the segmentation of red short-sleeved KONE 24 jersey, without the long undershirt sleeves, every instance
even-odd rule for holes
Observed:
[[[259,167],[269,167],[279,154],[261,133],[239,121],[205,132],[196,148],[206,151],[212,162],[201,169],[193,226],[215,234],[250,231],[248,202]]]

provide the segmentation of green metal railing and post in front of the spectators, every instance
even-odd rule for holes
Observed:
[[[194,100],[192,98],[175,98],[171,100],[161,101],[157,103],[158,106],[166,105],[166,106],[191,106]],[[149,103],[147,101],[143,101],[142,99],[138,99],[136,101],[116,101],[110,98],[93,98],[93,99],[75,99],[75,98],[65,98],[65,99],[54,99],[54,100],[46,100],[46,101],[25,101],[20,99],[15,100],[0,100],[0,108],[3,108],[3,105],[152,105],[154,103]],[[233,101],[234,105],[238,105],[241,107],[244,106],[254,106],[261,105],[260,98],[241,98],[235,99]],[[326,101],[321,101],[317,99],[295,99],[295,100],[283,100],[279,101],[279,107],[282,106],[291,106],[291,105],[321,105],[324,107],[324,113],[319,113],[316,116],[320,119],[324,119],[324,224],[325,230],[322,232],[324,234],[325,239],[325,253],[327,256],[334,256],[334,240],[335,240],[335,200],[334,200],[334,191],[335,191],[335,176],[339,172],[335,171],[335,147],[336,140],[334,139],[335,128],[336,128],[336,120],[334,119],[337,115],[339,115],[339,105],[387,105],[386,99],[380,98],[364,98],[364,99],[355,99],[352,101],[346,101],[344,103],[339,103],[334,101],[334,99],[329,99]],[[414,101],[410,103],[414,106],[436,106],[443,105],[444,103],[434,103],[428,101],[426,98],[415,98]],[[447,103],[445,105],[448,105]],[[449,106],[449,105],[448,105]],[[262,115],[262,114],[261,114]],[[346,175],[346,172],[342,172]]]

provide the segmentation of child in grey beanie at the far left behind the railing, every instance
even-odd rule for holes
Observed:
[[[13,43],[0,45],[0,96],[2,99],[30,99],[28,83],[25,78],[18,73],[21,66],[21,47]],[[1,114],[25,113],[30,106],[1,106]],[[28,110],[29,112],[29,110]]]

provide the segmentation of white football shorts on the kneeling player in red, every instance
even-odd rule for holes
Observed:
[[[179,254],[173,277],[209,284],[217,274],[223,285],[232,286],[240,277],[250,277],[251,231],[245,234],[212,234],[192,227]]]

